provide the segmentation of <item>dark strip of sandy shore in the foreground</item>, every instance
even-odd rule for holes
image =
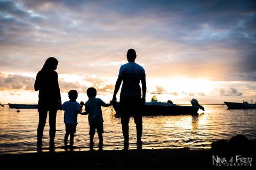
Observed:
[[[214,166],[213,156],[250,157],[251,166]],[[0,155],[1,169],[254,169],[255,153],[183,149],[37,152]],[[233,163],[235,160],[233,160]]]

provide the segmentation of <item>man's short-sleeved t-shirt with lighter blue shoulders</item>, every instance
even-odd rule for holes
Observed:
[[[134,62],[126,63],[120,67],[118,76],[123,77],[121,97],[141,97],[140,80],[146,76],[142,66]]]

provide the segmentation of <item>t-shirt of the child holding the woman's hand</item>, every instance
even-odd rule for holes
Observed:
[[[64,123],[77,124],[77,112],[80,111],[80,104],[76,101],[66,101],[61,106],[64,112]]]

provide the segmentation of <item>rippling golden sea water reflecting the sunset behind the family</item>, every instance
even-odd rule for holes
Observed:
[[[219,139],[229,140],[237,134],[256,139],[256,109],[228,109],[226,105],[204,105],[198,115],[144,116],[142,148],[211,148]],[[37,109],[0,107],[0,154],[36,152]],[[103,150],[123,149],[120,118],[109,108],[102,107],[104,119]],[[64,151],[65,124],[63,111],[57,113],[55,151]],[[95,150],[98,143],[94,136]],[[74,150],[89,150],[87,115],[78,115]],[[136,130],[130,120],[130,149],[136,146]],[[45,125],[43,151],[49,151],[49,123]]]

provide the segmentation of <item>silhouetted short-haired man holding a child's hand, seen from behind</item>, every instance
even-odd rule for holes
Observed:
[[[120,67],[118,79],[115,85],[115,91],[113,95],[113,102],[116,102],[116,94],[123,81],[121,94],[120,94],[120,106],[121,106],[121,124],[124,135],[124,149],[129,148],[129,122],[130,116],[134,117],[134,123],[136,124],[137,131],[137,146],[141,147],[142,136],[142,116],[141,108],[145,104],[146,97],[146,74],[142,66],[135,63],[136,52],[134,49],[127,51],[127,61]],[[140,88],[140,82],[142,87]],[[142,89],[142,98],[141,98]]]

